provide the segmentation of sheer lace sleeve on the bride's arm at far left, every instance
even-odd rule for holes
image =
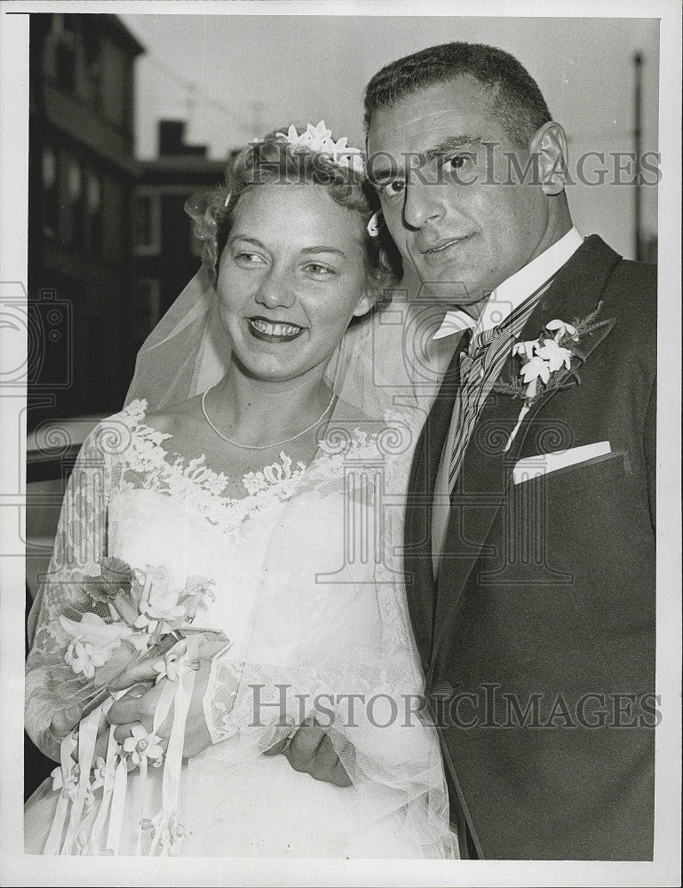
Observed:
[[[52,716],[78,702],[88,684],[65,663],[69,639],[59,616],[69,609],[79,613],[93,609],[91,599],[75,582],[75,571],[107,553],[112,434],[120,438],[121,429],[99,424],[83,443],[68,480],[49,572],[34,603],[37,618],[27,661],[26,730],[55,761],[59,761],[60,749],[50,730]],[[100,615],[109,617],[108,611]]]

